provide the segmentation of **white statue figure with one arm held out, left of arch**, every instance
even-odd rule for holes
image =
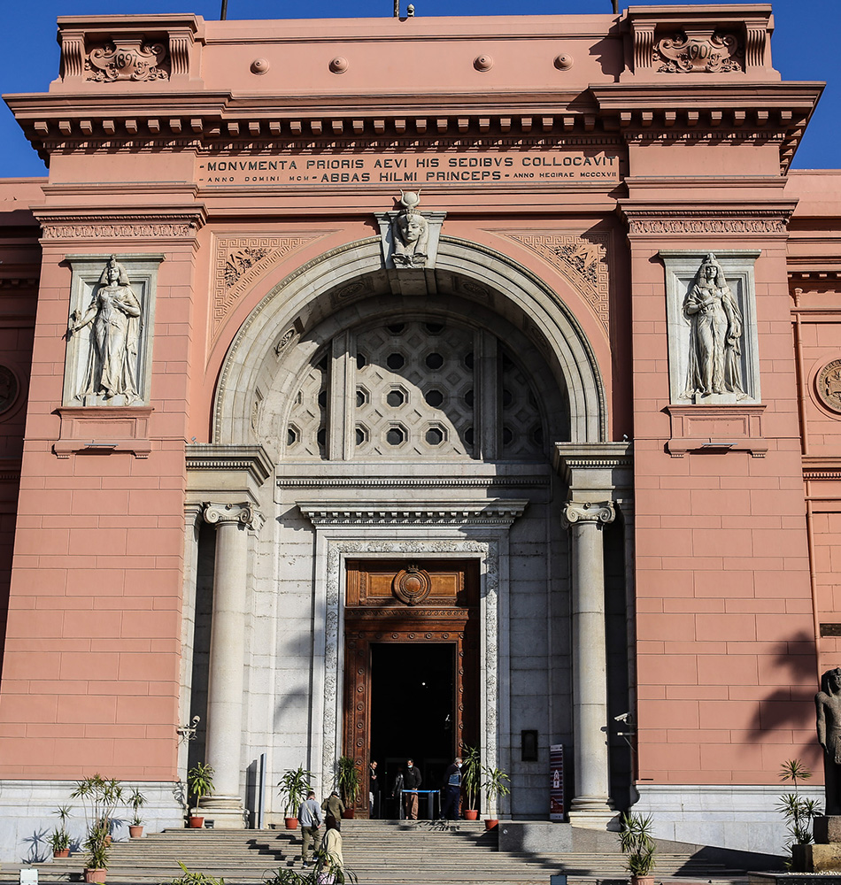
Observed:
[[[91,327],[88,369],[76,398],[125,396],[130,405],[139,396],[136,366],[143,318],[127,270],[115,256],[108,259],[88,309],[81,317],[73,311],[70,320],[70,335]]]

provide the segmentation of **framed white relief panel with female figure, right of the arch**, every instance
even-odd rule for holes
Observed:
[[[661,251],[666,266],[669,401],[760,401],[753,263],[758,250]]]

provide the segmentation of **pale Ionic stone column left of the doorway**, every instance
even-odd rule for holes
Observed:
[[[241,829],[248,529],[258,528],[261,517],[251,504],[205,504],[204,521],[216,526],[205,750],[214,789],[212,796],[202,798],[198,813],[212,819],[217,829]]]

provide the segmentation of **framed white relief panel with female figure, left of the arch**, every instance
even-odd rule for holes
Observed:
[[[68,256],[73,267],[63,404],[149,404],[162,255]]]

